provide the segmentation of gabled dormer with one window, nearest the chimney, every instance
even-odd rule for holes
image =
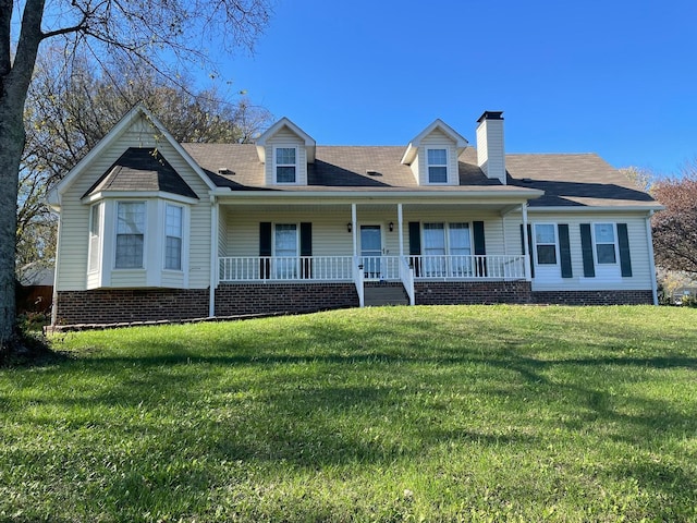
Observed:
[[[412,139],[402,163],[419,185],[458,185],[457,158],[466,147],[467,141],[439,119]]]

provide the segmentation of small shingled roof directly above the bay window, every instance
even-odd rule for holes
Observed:
[[[101,191],[162,191],[198,199],[184,179],[152,148],[129,147],[84,196]]]

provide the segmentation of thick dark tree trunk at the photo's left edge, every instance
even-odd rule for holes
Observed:
[[[0,0],[0,354],[12,344],[17,184],[24,148],[24,102],[39,44],[45,0],[27,0],[14,63],[10,60],[13,2]]]

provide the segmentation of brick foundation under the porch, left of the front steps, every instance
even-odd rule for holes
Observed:
[[[248,283],[216,289],[216,315],[306,313],[358,306],[353,283]]]

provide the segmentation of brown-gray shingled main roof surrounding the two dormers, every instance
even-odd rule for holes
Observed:
[[[308,185],[267,187],[264,165],[253,144],[183,144],[186,151],[220,187],[233,191],[467,191],[504,187],[489,180],[477,166],[477,154],[467,147],[458,158],[460,186],[419,187],[408,166],[400,161],[403,146],[317,146],[308,166]],[[219,174],[228,168],[233,174]],[[368,174],[374,171],[375,174]],[[550,206],[656,206],[620,171],[595,154],[506,155],[506,190],[536,188],[545,196],[531,207]]]

